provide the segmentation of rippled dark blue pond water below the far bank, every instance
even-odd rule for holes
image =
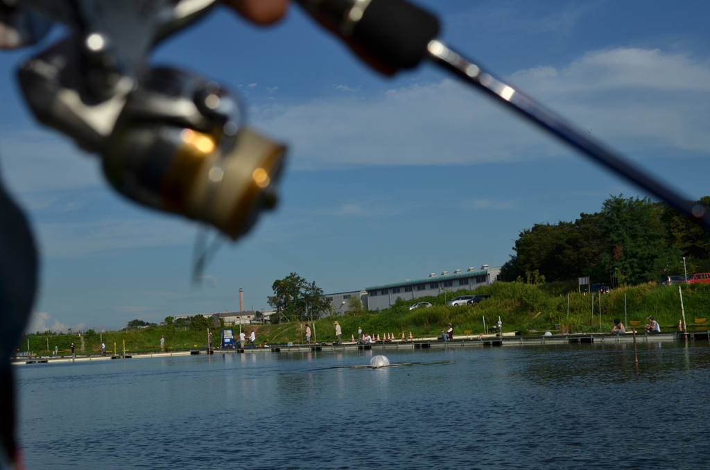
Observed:
[[[371,352],[19,366],[28,469],[710,467],[707,342]]]

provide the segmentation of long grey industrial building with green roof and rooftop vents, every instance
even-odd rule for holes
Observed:
[[[489,268],[487,264],[481,269],[469,268],[466,272],[460,269],[449,274],[443,271],[441,275],[431,273],[428,278],[405,280],[400,283],[372,285],[367,290],[368,310],[382,310],[390,307],[399,298],[412,300],[427,295],[439,295],[456,290],[474,290],[481,285],[490,285],[500,279],[501,268]]]

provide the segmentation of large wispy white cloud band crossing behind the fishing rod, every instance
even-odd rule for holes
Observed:
[[[510,81],[581,129],[627,153],[710,151],[710,65],[683,53],[620,48]],[[254,109],[256,124],[289,141],[293,167],[516,162],[570,155],[546,133],[454,80]],[[672,153],[672,152],[670,152]]]

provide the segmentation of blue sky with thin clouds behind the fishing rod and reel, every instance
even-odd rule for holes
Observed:
[[[442,38],[673,183],[709,195],[710,4],[421,1]],[[0,165],[43,256],[31,329],[268,308],[295,271],[326,293],[481,264],[521,229],[635,187],[432,65],[383,78],[297,7],[272,28],[223,8],[152,61],[222,82],[288,143],[278,210],[190,283],[195,224],[109,189],[92,155],[35,123],[0,55]]]

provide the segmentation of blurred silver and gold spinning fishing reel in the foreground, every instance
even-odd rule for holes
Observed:
[[[122,195],[236,240],[275,207],[285,147],[249,129],[244,106],[217,82],[146,64],[158,40],[214,3],[17,0],[0,19],[18,26],[18,44],[36,41],[27,25],[46,18],[72,29],[18,72],[41,122],[98,153]]]

